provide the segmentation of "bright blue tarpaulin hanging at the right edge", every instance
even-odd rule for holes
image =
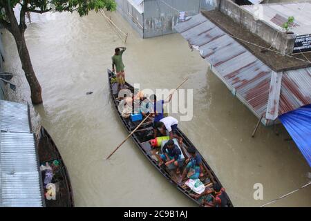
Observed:
[[[311,166],[311,104],[280,115],[279,119]]]

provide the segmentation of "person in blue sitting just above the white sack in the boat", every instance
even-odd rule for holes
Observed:
[[[199,177],[203,177],[203,165],[202,165],[202,158],[197,153],[196,148],[193,146],[189,146],[187,152],[191,155],[186,160],[187,166],[185,167],[184,172],[182,173],[182,180],[186,177],[189,179],[196,180]]]

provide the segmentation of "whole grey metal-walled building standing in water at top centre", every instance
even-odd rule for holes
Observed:
[[[115,0],[117,11],[149,38],[175,33],[174,27],[200,12],[200,0]]]

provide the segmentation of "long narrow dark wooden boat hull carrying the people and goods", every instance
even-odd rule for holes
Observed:
[[[140,124],[141,121],[132,122],[130,118],[122,117],[122,115],[118,111],[118,106],[122,99],[118,97],[117,83],[114,80],[111,80],[114,77],[115,77],[114,73],[112,73],[111,70],[108,70],[108,81],[109,81],[111,98],[113,100],[113,106],[115,106],[115,111],[117,112],[117,115],[119,115],[122,124],[126,128],[126,131],[128,133],[131,133],[136,128],[136,126]],[[125,86],[126,88],[129,88],[129,90],[131,90],[131,93],[134,93],[134,88],[133,86],[131,86],[131,84],[128,84],[126,82]],[[182,137],[183,143],[182,145],[180,145],[180,148],[181,148],[183,155],[185,156],[185,159],[187,159],[188,157],[190,157],[189,153],[187,153],[187,147],[193,146],[195,148],[195,146],[194,144],[190,142],[190,140],[186,137],[186,135],[182,133],[182,131],[180,131],[179,128],[177,129],[177,134],[178,136]],[[153,164],[153,166],[155,166],[156,169],[162,175],[164,175],[164,177],[166,177],[167,180],[169,180],[169,182],[171,182],[171,184],[176,186],[176,188],[182,191],[182,193],[184,193],[188,198],[190,198],[191,200],[193,200],[194,202],[202,206],[202,201],[200,199],[194,198],[194,194],[193,194],[194,192],[191,191],[191,189],[189,189],[189,187],[185,185],[186,180],[181,180],[181,175],[176,175],[175,171],[167,169],[166,166],[159,166],[158,161],[157,161],[158,157],[156,157],[156,151],[154,150],[154,148],[151,147],[151,144],[149,142],[149,140],[153,139],[153,128],[152,128],[151,122],[142,124],[139,130],[133,133],[131,137],[133,139],[133,142],[135,142],[136,146],[138,146],[140,151],[142,151],[142,153],[147,157],[149,162],[151,162],[151,164]],[[197,149],[196,151],[200,155]],[[202,157],[202,155],[200,156]],[[220,181],[218,180],[218,178],[216,177],[214,171],[211,170],[210,166],[207,164],[207,162],[204,160],[203,157],[202,157],[202,164],[205,170],[204,171],[205,176],[200,177],[200,180],[205,185],[205,188],[212,189],[214,184],[216,183],[219,184],[221,187],[223,187],[220,184]],[[227,206],[232,207],[233,205],[228,195],[227,195],[227,201],[228,201]]]

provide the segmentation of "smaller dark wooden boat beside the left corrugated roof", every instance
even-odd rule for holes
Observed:
[[[53,179],[50,183],[55,184],[56,187],[55,200],[48,200],[48,197],[46,196],[47,189],[44,184],[46,170],[41,171],[46,207],[74,207],[73,190],[71,188],[66,165],[64,164],[62,156],[53,142],[52,137],[50,137],[43,126],[41,126],[39,134],[37,135],[37,147],[40,166],[46,166],[48,163],[48,165],[53,168]]]

